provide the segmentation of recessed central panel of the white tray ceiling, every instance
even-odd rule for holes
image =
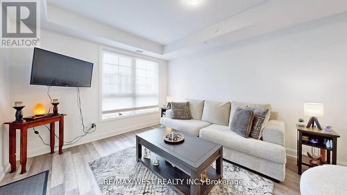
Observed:
[[[47,3],[164,45],[264,1],[47,0]]]

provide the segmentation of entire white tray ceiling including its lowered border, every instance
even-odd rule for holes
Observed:
[[[346,0],[41,1],[44,29],[164,60],[347,13]]]

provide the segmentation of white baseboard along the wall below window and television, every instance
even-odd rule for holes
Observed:
[[[67,149],[67,148],[70,148],[70,147],[73,147],[73,146],[78,146],[78,145],[81,145],[81,144],[85,144],[85,143],[88,143],[88,142],[94,142],[94,141],[99,140],[99,139],[112,137],[112,136],[119,135],[119,134],[122,134],[122,133],[127,133],[129,131],[136,130],[136,129],[139,129],[139,128],[145,128],[145,127],[148,127],[148,126],[153,126],[153,125],[156,125],[156,124],[159,124],[159,121],[155,120],[155,121],[151,121],[151,122],[146,123],[146,124],[140,124],[140,125],[137,125],[137,126],[130,126],[130,127],[127,127],[127,128],[121,128],[121,129],[117,129],[117,130],[114,130],[114,131],[108,131],[106,133],[99,133],[99,134],[96,134],[96,135],[90,135],[90,136],[87,136],[87,137],[83,137],[76,144],[64,146],[64,149]],[[31,149],[31,150],[28,150],[28,158],[34,157],[34,156],[37,156],[37,155],[42,155],[44,153],[49,153],[50,151],[51,151],[51,149],[49,148],[49,146],[42,146],[40,148]],[[55,149],[55,151],[58,151],[58,149]]]

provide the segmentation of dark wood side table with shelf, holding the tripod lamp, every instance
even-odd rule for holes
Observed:
[[[303,145],[312,146],[319,148],[321,150],[326,150],[326,164],[336,164],[337,163],[337,138],[340,137],[335,131],[332,133],[325,133],[324,130],[319,130],[319,128],[306,128],[304,126],[296,125],[296,129],[298,130],[298,142],[297,142],[297,165],[298,165],[298,174],[301,175],[302,165],[307,167],[315,167],[316,165],[310,164],[308,158],[303,158]],[[318,139],[317,144],[313,144],[310,141],[303,140],[303,136]],[[324,139],[332,140],[332,147],[327,147],[323,144]],[[332,153],[332,158],[330,157],[330,153]],[[325,158],[325,157],[323,157]],[[330,159],[331,158],[331,159]]]

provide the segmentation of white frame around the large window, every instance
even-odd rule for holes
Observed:
[[[149,111],[149,112],[143,112],[143,113],[138,113],[134,115],[124,115],[124,116],[119,116],[119,117],[112,117],[109,119],[103,119],[103,51],[108,51],[111,53],[117,53],[122,56],[128,56],[130,58],[139,58],[142,60],[150,60],[152,62],[157,62],[158,63],[158,110],[155,111]],[[159,69],[160,69],[160,61],[151,58],[149,56],[144,56],[140,55],[138,53],[133,53],[130,51],[124,51],[122,49],[115,49],[115,48],[110,48],[108,46],[99,46],[99,122],[105,122],[105,121],[115,121],[119,119],[126,119],[126,118],[132,118],[132,117],[139,117],[139,116],[144,116],[144,115],[153,115],[153,114],[158,114],[160,113],[160,89],[159,89]]]

